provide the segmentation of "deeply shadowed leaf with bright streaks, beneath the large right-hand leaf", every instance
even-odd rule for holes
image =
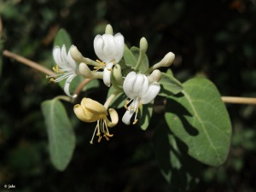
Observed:
[[[153,147],[160,172],[169,183],[172,191],[189,191],[199,182],[201,164],[191,158],[184,144],[160,121],[154,132]]]

